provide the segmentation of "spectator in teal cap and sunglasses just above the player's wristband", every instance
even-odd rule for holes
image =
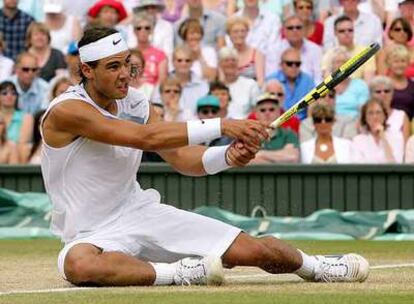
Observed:
[[[214,95],[206,95],[197,101],[197,116],[199,119],[210,119],[220,117],[220,100]],[[232,138],[222,136],[204,143],[206,146],[225,146],[233,141]]]

